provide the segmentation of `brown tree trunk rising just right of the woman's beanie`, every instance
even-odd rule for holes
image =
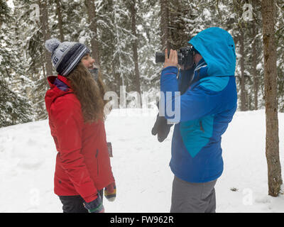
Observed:
[[[91,49],[96,65],[100,65],[99,60],[99,43],[97,42],[97,21],[96,21],[96,8],[94,0],[85,0],[85,5],[88,11],[89,30],[91,34]]]

